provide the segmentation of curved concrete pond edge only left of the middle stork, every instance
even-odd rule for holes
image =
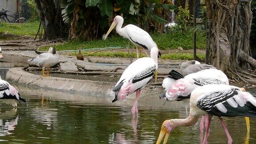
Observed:
[[[16,84],[24,84],[47,89],[69,92],[96,92],[105,95],[110,92],[114,83],[92,80],[74,80],[59,77],[43,77],[23,71],[23,68],[10,68],[6,74],[6,80]]]

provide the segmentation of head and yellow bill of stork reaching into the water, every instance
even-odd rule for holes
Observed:
[[[175,124],[172,122],[172,120],[165,120],[161,126],[161,131],[158,136],[156,144],[160,144],[163,138],[164,138],[163,144],[166,144],[168,137],[174,128],[175,128]]]

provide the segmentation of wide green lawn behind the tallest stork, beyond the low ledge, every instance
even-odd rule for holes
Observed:
[[[193,30],[188,32],[173,31],[169,33],[159,34],[152,33],[152,39],[156,42],[159,49],[183,49],[193,48]],[[78,48],[107,48],[107,47],[127,47],[128,39],[115,35],[108,37],[107,40],[68,40],[66,43],[54,45],[56,50],[75,50]],[[132,47],[132,43],[130,43]],[[206,47],[206,37],[203,32],[197,32],[197,48],[204,49]],[[40,50],[48,50],[49,47],[40,48]]]

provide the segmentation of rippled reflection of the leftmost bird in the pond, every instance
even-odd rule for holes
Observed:
[[[12,108],[0,113],[0,136],[12,134],[10,131],[14,130],[20,119],[16,112],[17,109]]]

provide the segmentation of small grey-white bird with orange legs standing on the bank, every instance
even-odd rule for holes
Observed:
[[[29,64],[34,64],[42,68],[44,75],[44,68],[47,68],[47,76],[49,76],[49,69],[59,63],[59,55],[56,53],[55,48],[50,48],[48,52],[41,53],[40,55],[28,60]]]

